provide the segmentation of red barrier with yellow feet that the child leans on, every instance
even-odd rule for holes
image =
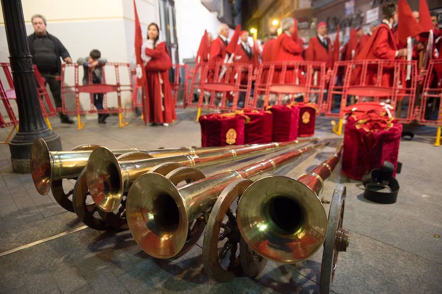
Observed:
[[[77,63],[72,64],[63,64],[61,67],[61,102],[62,102],[62,112],[65,114],[76,114],[78,118],[78,126],[79,130],[84,127],[84,124],[81,122],[81,115],[86,113],[118,113],[119,116],[119,124],[120,127],[124,127],[127,125],[127,122],[123,121],[123,112],[131,112],[134,111],[133,104],[133,92],[134,86],[132,82],[132,72],[129,63],[118,63],[118,62],[107,62],[103,65],[102,70],[102,83],[92,83],[92,75],[89,72],[89,82],[88,84],[80,84],[79,82],[79,68],[83,66],[79,66]],[[67,72],[69,69],[73,69],[73,73]],[[120,71],[121,70],[121,71]],[[90,69],[89,69],[90,71]],[[113,71],[114,81],[109,83],[111,79],[107,79],[107,75],[109,75],[108,71]],[[107,74],[108,72],[108,74]],[[121,75],[124,73],[124,81],[121,81]],[[72,82],[73,80],[73,82]],[[70,83],[68,81],[71,81]],[[116,94],[116,107],[108,107],[109,103],[109,93]],[[122,104],[121,101],[121,93],[122,92],[130,92],[130,99],[127,101],[128,103]],[[89,94],[89,109],[83,109],[80,101],[80,94],[88,93]],[[97,110],[94,107],[93,94],[94,93],[103,93],[103,109]],[[69,95],[73,95],[69,97]],[[75,100],[75,108],[68,109],[68,101]],[[72,102],[72,101],[71,101]]]

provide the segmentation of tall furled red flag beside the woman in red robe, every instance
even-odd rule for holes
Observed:
[[[136,58],[136,93],[138,93],[138,89],[143,89],[145,86],[145,81],[146,81],[146,77],[144,74],[144,66],[143,66],[143,60],[141,59],[141,46],[143,45],[143,34],[141,33],[141,26],[139,24],[139,19],[138,19],[138,12],[137,12],[137,5],[135,4],[135,0],[134,0],[134,14],[135,14],[135,42],[134,42],[134,47],[135,47],[135,58]],[[142,93],[142,92],[141,92]],[[147,91],[144,91],[144,94],[141,94],[141,101],[142,101],[142,105],[143,105],[143,120],[144,123],[147,124],[147,119],[148,119],[148,107],[149,104],[147,103],[147,99],[145,96],[147,96]]]

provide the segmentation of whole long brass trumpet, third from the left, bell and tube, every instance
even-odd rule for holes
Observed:
[[[149,255],[163,259],[174,257],[186,245],[190,223],[210,211],[221,191],[230,183],[273,172],[276,167],[327,144],[323,142],[289,151],[178,188],[167,176],[146,173],[138,177],[129,190],[126,200],[129,229]]]

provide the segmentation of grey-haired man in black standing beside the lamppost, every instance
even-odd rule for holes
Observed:
[[[55,106],[61,107],[60,81],[55,79],[61,73],[60,57],[66,63],[72,63],[69,52],[63,44],[53,35],[46,31],[46,18],[35,14],[31,18],[34,33],[28,36],[28,46],[32,55],[32,62],[37,66],[41,76],[49,83]],[[69,116],[59,113],[62,123],[73,124]]]

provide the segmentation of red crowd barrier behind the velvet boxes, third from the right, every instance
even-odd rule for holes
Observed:
[[[258,68],[252,107],[259,109],[295,100],[320,106],[325,85],[324,62],[264,62]]]

